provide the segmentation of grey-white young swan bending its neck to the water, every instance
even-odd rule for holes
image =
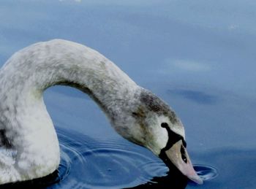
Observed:
[[[69,85],[87,93],[116,132],[202,184],[176,113],[105,56],[63,39],[18,51],[0,70],[0,184],[33,180],[59,167],[60,149],[42,93]]]

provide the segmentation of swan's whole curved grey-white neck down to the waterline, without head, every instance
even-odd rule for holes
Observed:
[[[0,148],[11,151],[12,161],[0,159],[0,175],[13,171],[0,184],[43,177],[59,166],[59,142],[42,100],[52,85],[83,90],[111,119],[138,88],[103,55],[74,42],[40,42],[12,55],[0,70],[0,138],[6,143],[0,140]]]

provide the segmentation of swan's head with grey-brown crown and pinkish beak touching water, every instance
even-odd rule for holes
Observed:
[[[176,166],[189,180],[202,184],[187,153],[184,126],[176,113],[148,90],[141,89],[135,99],[132,110],[115,127],[117,132],[151,150],[168,167]]]

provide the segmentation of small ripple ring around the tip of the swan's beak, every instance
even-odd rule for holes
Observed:
[[[204,181],[212,180],[218,176],[217,169],[212,166],[194,165],[194,169],[197,172],[198,176]]]

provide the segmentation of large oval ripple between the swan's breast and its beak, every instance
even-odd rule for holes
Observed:
[[[131,187],[148,182],[160,172],[165,175],[167,171],[164,166],[157,170],[161,162],[144,163],[151,159],[131,150],[94,147],[80,154],[86,163],[83,163],[83,167],[78,163],[73,166],[80,172],[80,176],[85,176],[86,179],[81,178],[80,182],[86,188]]]

